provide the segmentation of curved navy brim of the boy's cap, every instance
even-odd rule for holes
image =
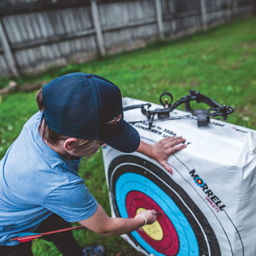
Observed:
[[[99,138],[108,146],[124,153],[132,153],[140,146],[140,135],[130,124],[124,121],[121,130],[110,137]]]

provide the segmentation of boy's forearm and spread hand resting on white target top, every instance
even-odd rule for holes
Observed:
[[[143,141],[140,141],[140,146],[137,151],[152,159],[155,159],[159,164],[164,166],[168,172],[172,174],[172,168],[167,164],[167,160],[172,154],[183,148],[186,148],[186,145],[184,144],[177,146],[178,144],[184,143],[185,141],[186,140],[182,137],[174,136],[159,140],[153,145],[149,145]]]

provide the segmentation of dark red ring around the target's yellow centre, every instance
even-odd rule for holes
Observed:
[[[157,212],[163,212],[155,201],[140,191],[130,191],[126,196],[125,205],[130,218],[133,218],[136,215],[136,211],[140,207],[147,210],[154,209]],[[166,256],[176,255],[179,252],[179,238],[171,220],[169,220],[164,212],[157,216],[157,220],[164,232],[164,237],[161,241],[152,239],[143,230],[138,229],[137,232],[143,240],[157,252],[163,253]]]

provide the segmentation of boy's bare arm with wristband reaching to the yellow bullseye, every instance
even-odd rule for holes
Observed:
[[[156,211],[147,210],[144,212],[147,224],[156,220]],[[96,212],[85,220],[78,221],[81,225],[102,236],[119,236],[144,226],[145,219],[138,218],[110,218],[101,205],[98,203]]]

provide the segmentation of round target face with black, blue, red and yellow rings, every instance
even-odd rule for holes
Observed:
[[[157,221],[128,234],[138,248],[156,256],[220,256],[210,224],[188,194],[152,162],[138,156],[116,157],[108,168],[117,217],[143,210],[161,212]],[[203,180],[196,180],[199,185]]]

